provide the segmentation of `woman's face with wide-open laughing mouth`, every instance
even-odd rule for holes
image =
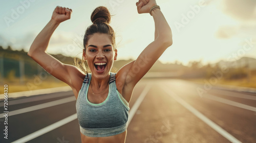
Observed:
[[[93,34],[88,40],[86,50],[83,50],[83,58],[87,60],[92,74],[98,79],[109,75],[116,57],[117,50],[114,50],[107,34]]]

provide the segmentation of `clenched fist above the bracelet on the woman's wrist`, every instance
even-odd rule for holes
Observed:
[[[139,0],[136,3],[138,13],[150,13],[150,9],[156,5],[156,0]]]

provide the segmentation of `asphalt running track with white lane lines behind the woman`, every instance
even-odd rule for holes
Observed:
[[[204,94],[198,92],[202,89]],[[9,99],[8,111],[5,139],[0,103],[0,142],[81,142],[72,91]],[[128,143],[256,142],[256,93],[143,79],[134,89],[130,111]]]

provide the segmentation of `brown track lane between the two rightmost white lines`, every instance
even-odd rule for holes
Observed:
[[[204,94],[201,98],[197,92],[197,87],[199,87],[199,85],[196,84],[191,84],[182,80],[170,80],[165,82],[165,84],[168,85],[169,89],[178,94],[183,100],[240,141],[256,141],[256,133],[254,132],[256,129],[256,122],[254,122],[256,121],[256,114],[254,111],[211,100],[207,98],[207,94]],[[209,90],[209,92],[212,92],[213,90],[216,89],[212,88]],[[220,90],[218,91],[219,95],[221,95],[222,93]],[[215,94],[212,96],[215,96]],[[222,94],[221,97],[224,98],[226,96]],[[255,100],[250,100],[248,103],[243,103],[247,105],[251,102],[256,104]]]

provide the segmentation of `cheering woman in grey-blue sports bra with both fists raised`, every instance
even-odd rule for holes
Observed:
[[[150,13],[155,21],[155,40],[140,56],[110,73],[117,58],[111,16],[105,7],[96,8],[83,39],[83,63],[90,74],[76,66],[63,64],[46,53],[51,35],[59,23],[70,19],[72,9],[56,7],[51,20],[32,43],[28,55],[51,75],[71,86],[82,142],[125,142],[129,102],[138,81],[162,53],[172,45],[172,31],[155,0],[136,3],[138,13]],[[154,7],[153,7],[154,6]],[[51,68],[49,68],[51,67]]]

